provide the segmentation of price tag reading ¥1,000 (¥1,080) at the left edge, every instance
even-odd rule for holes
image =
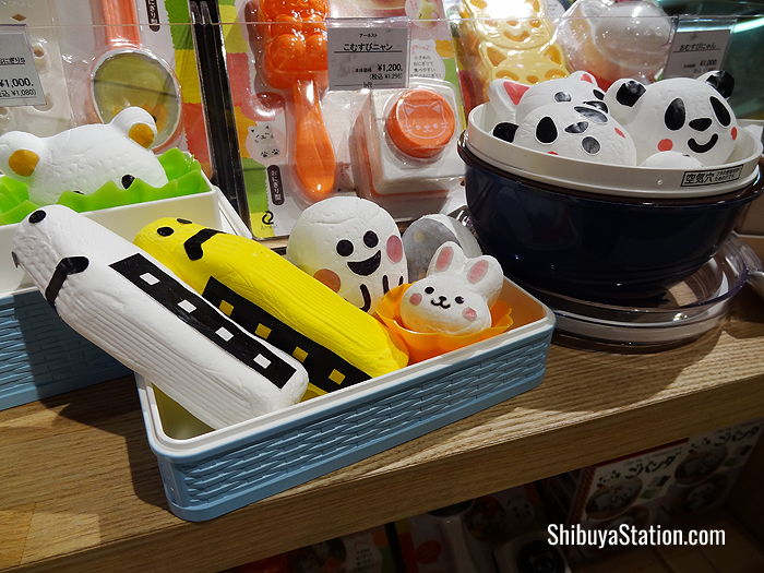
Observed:
[[[0,106],[43,106],[45,93],[23,24],[0,25]]]

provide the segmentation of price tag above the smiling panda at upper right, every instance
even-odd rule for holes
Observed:
[[[705,72],[720,70],[729,34],[729,28],[678,29],[671,41],[664,77],[697,77]]]

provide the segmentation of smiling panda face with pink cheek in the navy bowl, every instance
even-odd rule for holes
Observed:
[[[643,86],[621,80],[605,100],[634,138],[638,162],[672,151],[714,166],[727,162],[735,148],[735,114],[707,82],[675,77]]]

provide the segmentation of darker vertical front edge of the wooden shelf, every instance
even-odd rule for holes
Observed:
[[[713,418],[706,415],[708,403],[716,405]],[[506,405],[492,409],[498,411],[471,418],[504,414]],[[764,416],[764,375],[402,464],[428,442],[447,439],[439,434],[454,430],[449,427],[211,522],[170,518],[144,535],[10,570],[225,569],[759,416]],[[630,427],[640,431],[623,431]]]

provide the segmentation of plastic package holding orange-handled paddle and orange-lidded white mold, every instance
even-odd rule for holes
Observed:
[[[268,11],[266,15],[263,7],[268,2],[261,3],[260,9],[246,0],[219,4],[239,144],[236,153],[258,239],[288,236],[302,211],[330,196],[349,194],[372,200],[397,223],[430,213],[447,214],[465,203],[461,186],[464,165],[455,153],[465,121],[455,45],[443,4],[433,0],[332,0],[326,4],[329,12],[321,12],[327,16],[325,25],[299,11],[297,16],[289,16],[290,24],[284,14]],[[403,15],[410,22],[381,21]],[[266,17],[276,22],[267,22]],[[343,37],[348,27],[354,32],[359,28],[362,34],[375,34],[385,27],[407,32],[408,53],[401,58],[408,63],[396,60],[393,64],[393,72],[398,71],[397,65],[403,68],[394,79],[401,87],[375,85],[368,89],[356,80],[353,85],[357,88],[335,85],[342,84],[337,77],[347,74],[354,79],[357,73],[377,75],[378,65],[392,61],[380,56],[379,62],[369,68],[365,63],[360,72],[342,71],[343,67],[351,67],[349,60],[333,55],[327,58],[329,45],[315,38],[327,38],[334,31]],[[291,51],[274,49],[268,56],[268,41],[274,46],[276,41],[290,43]],[[307,48],[309,43],[315,43],[314,50]],[[274,68],[278,68],[275,76]],[[314,84],[310,114],[318,118],[320,107],[329,140],[323,135],[308,138],[315,130],[298,129],[301,120],[293,112],[291,85],[308,82],[308,76]],[[372,83],[385,83],[383,80]],[[430,141],[433,122],[440,126],[439,133]],[[318,168],[309,168],[307,163],[305,169],[300,167],[298,138],[312,142],[308,147],[321,162],[313,164]],[[321,192],[309,191],[308,177],[329,181],[330,171],[334,176],[331,189],[322,183]]]

